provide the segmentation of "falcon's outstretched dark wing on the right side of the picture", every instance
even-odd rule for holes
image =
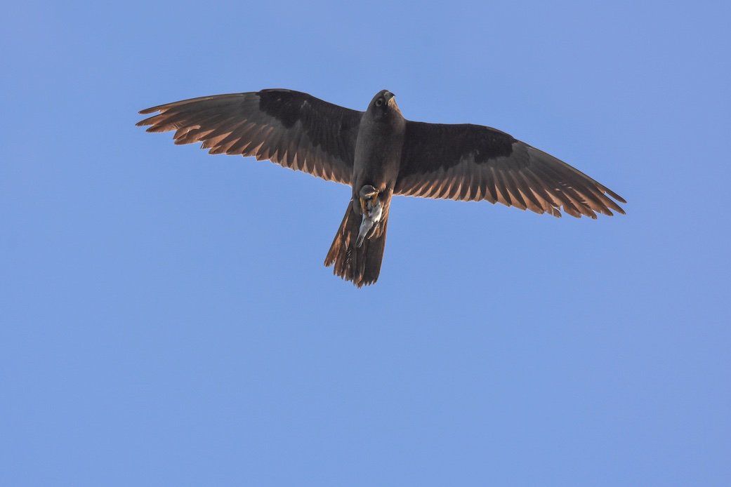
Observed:
[[[583,172],[489,127],[406,122],[395,194],[500,202],[560,217],[624,210],[617,193]]]

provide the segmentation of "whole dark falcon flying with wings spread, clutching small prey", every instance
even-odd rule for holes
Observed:
[[[174,130],[175,144],[202,142],[211,154],[269,159],[352,187],[325,266],[357,287],[381,271],[393,195],[487,200],[579,218],[624,213],[617,193],[579,170],[490,127],[406,120],[393,93],[365,112],[291,90],[175,101],[137,126]],[[607,196],[608,195],[608,196]]]

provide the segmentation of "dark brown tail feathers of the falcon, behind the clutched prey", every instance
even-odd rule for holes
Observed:
[[[333,245],[330,245],[330,251],[325,257],[325,266],[334,265],[334,275],[352,281],[359,288],[375,283],[381,272],[383,249],[386,245],[388,210],[384,210],[376,233],[357,247],[355,243],[358,231],[360,231],[360,221],[360,215],[353,211],[353,205],[350,202],[345,210],[343,223],[340,224],[338,233],[333,239]]]

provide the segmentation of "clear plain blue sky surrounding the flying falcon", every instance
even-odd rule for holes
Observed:
[[[13,2],[0,20],[3,486],[727,486],[727,2]],[[137,110],[292,88],[507,131],[627,199],[397,198]]]

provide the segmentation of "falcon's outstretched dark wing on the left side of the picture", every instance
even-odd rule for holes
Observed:
[[[363,112],[307,93],[262,90],[203,96],[142,110],[148,132],[174,130],[175,144],[202,142],[211,154],[270,159],[311,175],[351,184]]]

